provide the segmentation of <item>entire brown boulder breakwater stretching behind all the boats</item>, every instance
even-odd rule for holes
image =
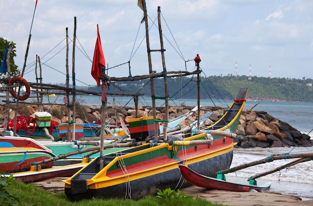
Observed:
[[[9,105],[9,118],[14,117],[14,104]],[[81,108],[76,109],[77,123],[97,122],[101,119],[101,106],[86,106],[79,105]],[[187,113],[193,107],[191,106],[169,106],[169,119]],[[211,111],[211,116],[205,121],[205,126],[216,122],[227,108],[220,106],[201,107],[199,115],[202,116],[205,112]],[[57,122],[67,122],[66,106],[64,105],[43,105],[43,110],[52,114],[51,120]],[[30,115],[34,117],[34,112],[38,111],[37,105],[20,105],[17,109],[17,115]],[[164,119],[165,108],[159,107],[156,111],[159,119]],[[72,114],[71,114],[72,115]],[[137,117],[152,115],[151,106],[138,106]],[[119,117],[128,121],[129,118],[135,117],[135,108],[133,106],[121,107],[108,105],[105,110],[105,122],[116,123]],[[195,121],[197,113],[189,116],[188,119],[181,122],[181,127],[184,127]],[[0,120],[4,119],[4,107],[0,105]],[[236,147],[288,147],[288,146],[313,146],[313,140],[310,136],[301,133],[297,129],[290,126],[288,123],[269,115],[265,111],[254,111],[243,109],[239,124],[237,127],[237,137],[234,139],[237,142]]]

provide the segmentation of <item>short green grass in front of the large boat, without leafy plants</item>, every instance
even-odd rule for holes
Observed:
[[[0,177],[2,178],[2,177]],[[24,184],[21,182],[13,181],[8,187],[7,191],[10,192],[18,202],[15,205],[27,206],[54,206],[54,205],[75,205],[75,206],[97,206],[97,205],[122,205],[122,206],[145,206],[145,205],[212,205],[218,206],[222,204],[213,204],[202,198],[165,198],[160,199],[156,196],[147,196],[139,200],[126,200],[126,199],[85,199],[77,202],[71,202],[67,199],[64,192],[52,193],[35,186],[32,183]],[[4,204],[5,205],[5,204]],[[4,206],[3,205],[3,206]],[[12,205],[12,204],[7,204]],[[14,205],[14,204],[13,204]]]

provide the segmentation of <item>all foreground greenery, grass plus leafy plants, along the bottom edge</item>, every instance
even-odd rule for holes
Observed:
[[[212,205],[218,206],[221,204],[212,204],[211,202],[202,198],[191,198],[184,195],[181,191],[178,194],[174,190],[166,189],[166,192],[160,191],[158,193],[162,198],[156,196],[147,196],[140,200],[126,200],[126,199],[85,199],[77,202],[71,202],[67,199],[64,192],[51,193],[34,184],[24,184],[16,182],[12,176],[0,176],[0,205],[73,205],[73,206],[88,206],[88,205],[129,205],[129,206],[143,206],[143,205]]]

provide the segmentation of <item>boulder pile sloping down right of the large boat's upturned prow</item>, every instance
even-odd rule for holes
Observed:
[[[265,111],[243,110],[237,127],[237,147],[313,146],[309,135]]]

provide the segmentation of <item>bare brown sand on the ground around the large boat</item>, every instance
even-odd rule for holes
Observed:
[[[64,190],[64,183],[61,181],[66,177],[56,177],[46,179],[34,184],[40,188],[51,192]],[[313,200],[301,200],[298,196],[284,195],[274,192],[232,192],[216,189],[205,189],[198,186],[189,186],[180,189],[185,195],[191,195],[195,198],[205,198],[212,203],[233,205],[233,206],[311,206]]]

